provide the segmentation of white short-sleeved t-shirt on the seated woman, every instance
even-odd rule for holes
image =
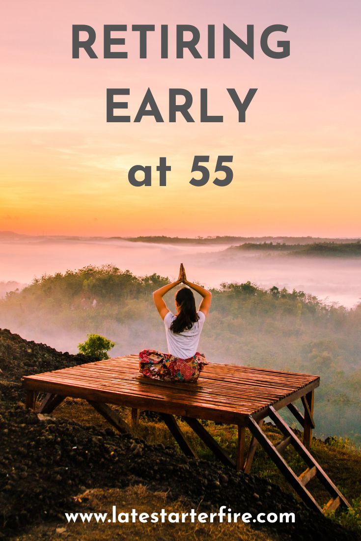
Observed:
[[[181,333],[174,333],[170,330],[170,325],[175,319],[175,315],[172,312],[168,312],[164,318],[164,324],[166,327],[166,336],[168,344],[168,353],[178,357],[179,359],[189,359],[193,357],[198,351],[199,337],[202,332],[203,324],[206,320],[206,316],[203,312],[197,312],[199,320],[193,324],[191,329],[185,329]]]

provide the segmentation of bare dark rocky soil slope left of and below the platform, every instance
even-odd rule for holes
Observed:
[[[111,428],[102,430],[25,410],[21,377],[94,359],[62,354],[0,330],[0,528],[18,536],[22,527],[64,520],[81,504],[74,496],[89,489],[147,485],[204,510],[221,505],[234,512],[294,512],[295,524],[268,525],[284,539],[356,539],[307,509],[265,479],[235,473],[217,463],[189,459],[173,447],[148,445]],[[260,525],[253,525],[260,527]],[[1,535],[0,535],[1,537]]]

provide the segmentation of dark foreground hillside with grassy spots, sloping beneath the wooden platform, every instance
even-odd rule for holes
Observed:
[[[255,458],[258,475],[246,476],[220,467],[199,442],[196,445],[201,460],[183,456],[180,460],[174,441],[154,415],[143,415],[137,437],[130,437],[115,434],[81,400],[68,399],[54,414],[40,418],[24,409],[20,384],[23,374],[91,360],[94,359],[62,354],[43,344],[23,340],[6,329],[0,330],[0,505],[6,535],[18,536],[25,529],[22,540],[36,539],[46,520],[47,531],[54,531],[52,539],[57,539],[56,528],[64,525],[64,511],[99,509],[101,502],[111,501],[107,494],[118,491],[115,493],[129,502],[143,498],[148,505],[162,498],[166,506],[198,506],[202,502],[201,509],[205,510],[229,505],[234,511],[252,512],[261,502],[265,512],[277,509],[296,513],[296,524],[268,527],[263,529],[266,537],[260,532],[257,539],[276,540],[278,535],[293,540],[327,539],[330,535],[340,540],[357,538],[355,512],[344,512],[331,521],[306,509],[277,477],[277,471],[272,471],[272,464],[262,451]],[[129,412],[123,410],[123,414]],[[234,437],[229,436],[232,427],[212,424],[208,428],[225,440],[229,452],[234,452]],[[279,437],[274,427],[267,430],[273,432],[273,437]],[[336,483],[342,485],[345,496],[350,500],[356,498],[360,490],[359,453],[347,450],[334,439],[329,444],[313,440],[313,446],[326,471],[332,471]],[[157,464],[159,467],[155,467]],[[147,489],[142,488],[145,485]],[[76,498],[77,494],[83,496]],[[123,504],[126,506],[127,502]],[[353,531],[348,533],[339,522]],[[219,535],[215,527],[216,531]],[[73,529],[69,526],[67,535],[73,536],[71,532],[79,535],[79,526]],[[171,534],[167,539],[181,537],[177,530]],[[229,529],[228,534],[229,539],[239,539],[239,530]],[[113,539],[108,535],[112,535],[111,531],[108,534],[103,531],[96,537],[91,530],[89,538],[82,539]],[[205,538],[208,535],[211,532],[204,530]],[[254,539],[249,527],[243,527],[242,538]]]

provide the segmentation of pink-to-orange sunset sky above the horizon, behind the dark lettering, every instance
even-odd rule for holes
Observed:
[[[6,2],[0,230],[361,235],[360,15],[356,0]],[[235,46],[231,59],[221,57],[223,23],[242,38],[254,24],[254,60]],[[277,36],[291,42],[283,60],[266,57],[259,45],[262,30],[276,23],[288,26]],[[73,24],[94,27],[98,59],[84,52],[71,58]],[[104,24],[128,25],[126,60],[102,58]],[[147,59],[139,58],[132,24],[155,24]],[[169,25],[167,60],[160,58],[161,24]],[[207,24],[215,24],[216,58],[195,60],[186,52],[177,60],[176,24],[200,29],[204,56]],[[118,87],[130,89],[132,120],[150,87],[165,122],[107,123],[106,89]],[[169,88],[192,92],[193,124],[168,122]],[[200,123],[200,88],[208,88],[209,114],[224,115],[224,123]],[[241,99],[258,88],[245,123],[238,123],[227,88]],[[218,155],[233,155],[233,182],[191,186],[195,154],[210,155],[213,170]],[[160,156],[172,166],[166,187],[157,186]],[[128,183],[138,163],[153,166],[152,187]]]

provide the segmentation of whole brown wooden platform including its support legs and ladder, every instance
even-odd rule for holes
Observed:
[[[339,504],[349,504],[307,450],[314,428],[314,389],[319,386],[319,382],[317,375],[210,363],[205,366],[194,384],[172,384],[150,380],[141,375],[137,355],[23,378],[23,386],[27,390],[27,407],[35,408],[37,393],[47,393],[37,410],[42,413],[50,413],[66,397],[83,398],[117,430],[131,432],[132,428],[107,404],[131,407],[134,423],[137,422],[140,410],[158,412],[181,450],[188,456],[195,456],[173,417],[180,415],[222,463],[246,473],[250,472],[255,448],[257,443],[260,443],[307,504],[321,510],[305,487],[310,479],[318,475],[332,496],[327,504],[329,509],[336,509]],[[301,399],[304,413],[293,404],[297,399]],[[279,417],[277,411],[283,407],[287,407],[303,426],[304,445]],[[284,438],[276,445],[268,440],[261,429],[263,420],[268,415],[284,433]],[[238,426],[236,461],[229,457],[197,419],[222,421]],[[251,431],[252,439],[244,459],[246,428]],[[297,476],[281,457],[290,444],[308,466],[300,476]]]

